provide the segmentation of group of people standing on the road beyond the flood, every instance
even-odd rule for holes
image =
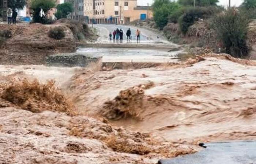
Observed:
[[[113,33],[109,33],[109,40],[112,40],[112,34],[113,34],[113,40],[119,40],[120,38],[120,41],[123,41],[123,36],[124,36],[124,31],[122,29],[116,29],[113,31]],[[131,32],[131,29],[128,28],[128,30],[126,31],[126,36],[127,36],[127,42],[130,42],[132,41],[132,32]],[[136,36],[137,36],[137,43],[140,42],[140,31],[139,29],[136,30]]]

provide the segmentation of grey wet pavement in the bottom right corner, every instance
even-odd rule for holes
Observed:
[[[192,155],[162,159],[158,164],[255,164],[256,142],[215,142]]]

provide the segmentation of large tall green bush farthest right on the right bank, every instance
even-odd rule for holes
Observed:
[[[212,28],[216,31],[217,38],[223,44],[227,54],[239,58],[248,55],[246,38],[249,22],[248,15],[234,12],[233,9],[213,19]]]

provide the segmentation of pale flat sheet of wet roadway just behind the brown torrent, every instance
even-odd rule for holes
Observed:
[[[135,48],[79,48],[84,55],[103,56],[102,62],[176,62],[182,51],[146,50]]]

